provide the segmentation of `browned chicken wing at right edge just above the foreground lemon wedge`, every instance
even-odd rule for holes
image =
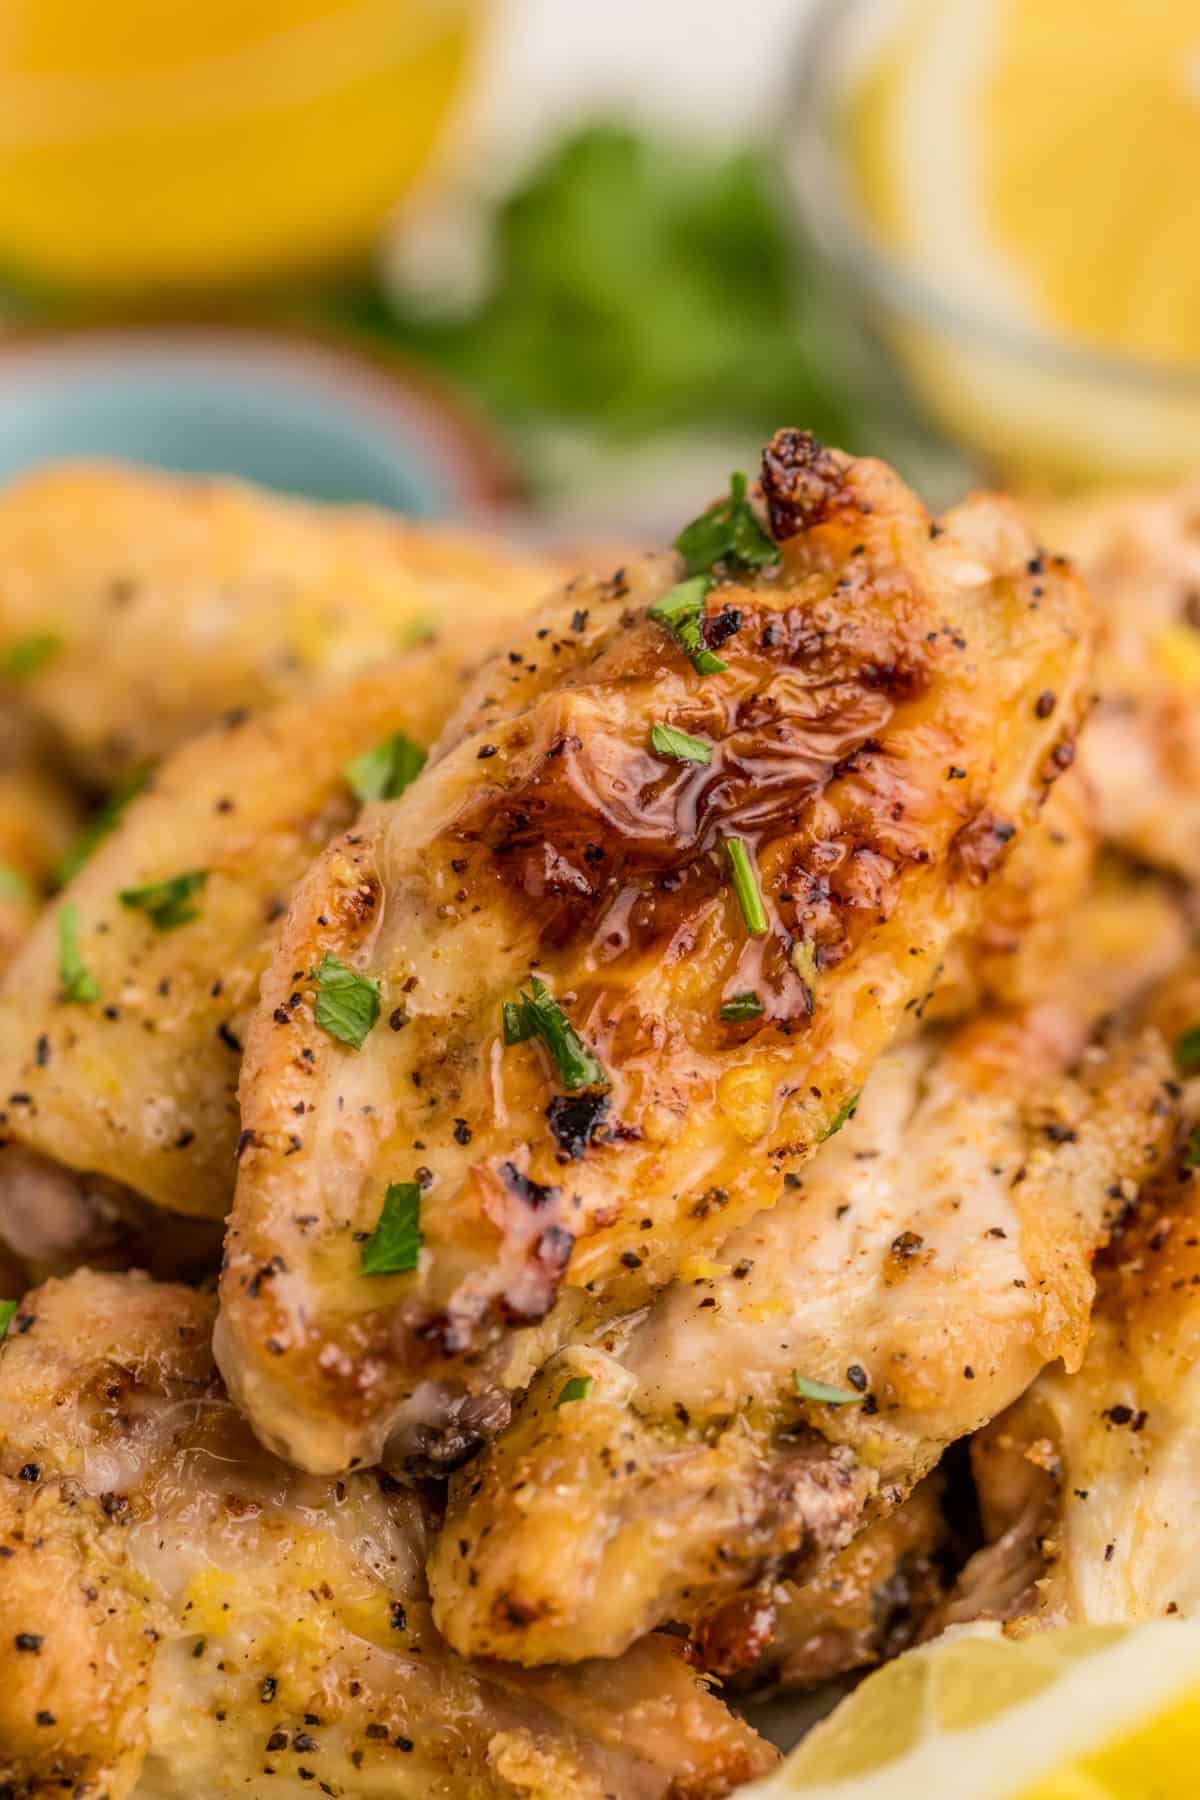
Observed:
[[[1160,1019],[1169,1037],[1200,1026],[1200,965],[1169,983]],[[1191,1134],[1097,1265],[1083,1368],[1047,1370],[973,1445],[991,1543],[964,1571],[955,1620],[1200,1615],[1196,1080],[1184,1116]]]

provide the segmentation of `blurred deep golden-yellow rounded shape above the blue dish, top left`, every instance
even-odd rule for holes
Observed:
[[[482,0],[5,0],[0,272],[228,284],[371,241]]]

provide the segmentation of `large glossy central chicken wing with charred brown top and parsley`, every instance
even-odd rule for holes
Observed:
[[[246,1039],[216,1343],[302,1467],[389,1440],[461,1458],[581,1316],[770,1206],[1070,761],[1087,605],[1029,572],[1015,513],[936,527],[887,468],[797,432],[763,490],[779,562],[725,571],[691,653],[651,614],[678,558],[574,583],[297,893]],[[315,1022],[324,956],[380,985],[358,1051]],[[567,1062],[504,1044],[534,976]],[[723,1019],[747,992],[761,1010]],[[367,1276],[392,1184],[419,1190],[423,1249]]]

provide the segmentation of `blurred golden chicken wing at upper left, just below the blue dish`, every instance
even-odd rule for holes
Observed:
[[[0,493],[0,664],[16,661],[13,697],[108,787],[232,707],[511,621],[560,578],[367,508],[65,464]]]

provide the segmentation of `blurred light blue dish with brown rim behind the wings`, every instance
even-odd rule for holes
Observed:
[[[504,452],[423,373],[219,326],[0,337],[0,482],[63,457],[236,475],[416,517],[515,495]]]

